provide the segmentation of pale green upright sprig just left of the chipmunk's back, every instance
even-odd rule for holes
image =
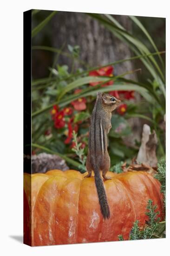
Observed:
[[[79,158],[79,162],[81,162],[81,164],[78,166],[78,168],[81,170],[81,172],[86,172],[86,167],[85,167],[85,162],[86,162],[86,156],[85,156],[85,150],[84,148],[81,148],[82,143],[78,143],[78,139],[77,139],[77,133],[75,133],[75,131],[72,132],[72,138],[73,138],[73,142],[75,143],[74,148],[72,148],[72,151],[74,151],[76,153],[76,155]]]

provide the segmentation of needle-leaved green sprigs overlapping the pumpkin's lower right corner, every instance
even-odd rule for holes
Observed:
[[[146,211],[145,215],[148,216],[147,223],[145,224],[144,228],[141,229],[139,227],[139,221],[136,220],[133,223],[133,227],[132,227],[130,235],[129,235],[129,240],[151,239],[151,238],[164,237],[164,234],[163,234],[163,231],[164,231],[163,224],[164,223],[160,222],[160,218],[157,217],[159,212],[156,211],[157,206],[153,205],[153,202],[151,199],[148,200],[146,209],[147,209],[147,211]],[[161,232],[160,232],[160,226],[162,226]],[[124,240],[123,236],[119,235],[118,240],[119,241]]]

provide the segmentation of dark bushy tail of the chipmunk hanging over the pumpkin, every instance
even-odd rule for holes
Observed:
[[[94,168],[94,178],[95,178],[95,184],[96,184],[96,188],[97,188],[97,192],[98,192],[98,200],[99,200],[99,204],[100,204],[100,209],[101,209],[101,213],[104,217],[104,219],[109,219],[110,218],[110,209],[109,209],[109,204],[107,201],[107,196],[105,193],[105,187],[104,187],[104,183],[102,181],[102,178],[100,176],[100,171],[98,170],[98,168]]]

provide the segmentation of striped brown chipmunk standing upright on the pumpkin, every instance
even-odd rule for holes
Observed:
[[[100,176],[102,171],[105,180],[111,179],[106,173],[110,169],[110,156],[107,152],[107,134],[111,129],[111,112],[115,110],[121,101],[109,94],[97,94],[95,106],[92,111],[91,125],[89,129],[88,155],[86,169],[90,177],[94,171],[95,184],[98,192],[98,200],[104,219],[110,218],[110,209],[105,193],[104,183]]]

